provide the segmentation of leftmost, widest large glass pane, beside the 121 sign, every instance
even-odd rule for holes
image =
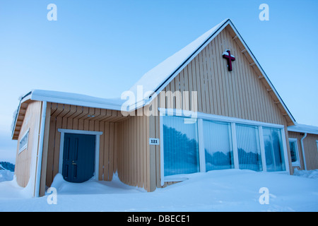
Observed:
[[[199,172],[196,119],[163,117],[165,176]]]

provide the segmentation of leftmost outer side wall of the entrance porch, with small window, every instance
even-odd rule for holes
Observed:
[[[16,181],[18,185],[23,187],[28,185],[30,175],[35,174],[34,170],[36,166],[36,155],[39,144],[41,111],[42,102],[32,101],[28,103],[23,124],[18,136],[16,167],[14,174],[16,175]],[[28,146],[25,150],[19,153],[20,140],[23,138],[25,133],[27,133],[27,131],[29,131]]]

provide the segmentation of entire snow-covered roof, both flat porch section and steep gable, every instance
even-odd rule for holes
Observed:
[[[158,66],[155,66],[153,69],[145,73],[129,90],[134,93],[135,97],[129,99],[131,102],[127,102],[127,100],[121,100],[120,98],[105,99],[76,93],[65,93],[50,90],[32,90],[30,93],[28,93],[28,95],[23,97],[23,100],[21,100],[20,103],[25,100],[40,100],[68,105],[80,105],[84,107],[96,107],[114,110],[121,110],[122,105],[125,103],[125,105],[129,106],[129,110],[138,109],[139,107],[148,105],[151,100],[153,100],[153,98],[158,95],[160,91],[163,90],[163,88],[165,88],[165,86],[170,83],[170,81],[172,81],[172,79],[175,78],[175,76],[177,76],[177,74],[182,71],[182,69],[184,69],[184,67],[187,66],[187,64],[189,64],[189,62],[192,61],[192,59],[194,59],[194,57],[196,57],[196,55],[199,54],[202,49],[204,49],[204,47],[206,47],[207,44],[211,42],[211,40],[213,40],[213,38],[216,37],[216,35],[218,35],[218,33],[228,25],[230,28],[232,28],[233,32],[235,32],[237,40],[240,40],[242,46],[245,47],[246,52],[249,54],[249,58],[254,61],[254,64],[257,66],[257,69],[259,69],[261,75],[264,76],[267,86],[273,90],[274,95],[278,99],[278,104],[282,106],[281,108],[285,111],[283,113],[287,115],[290,124],[295,124],[296,122],[292,114],[290,114],[283,100],[281,100],[281,97],[273,87],[273,84],[271,81],[269,81],[269,78],[266,76],[264,70],[261,69],[257,59],[255,59],[249,47],[247,47],[247,44],[242,39],[240,33],[236,30],[230,19],[223,20],[221,23],[205,32],[186,47],[179,50],[179,52],[176,52],[171,57],[168,57],[165,59],[165,61],[158,64]],[[138,95],[137,89],[139,86],[143,88],[143,93],[148,93],[151,91],[146,98],[142,95]]]

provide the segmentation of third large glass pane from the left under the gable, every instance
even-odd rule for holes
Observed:
[[[261,171],[261,148],[257,126],[236,124],[237,154],[240,169]]]

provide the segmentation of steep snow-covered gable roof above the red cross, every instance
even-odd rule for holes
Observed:
[[[182,69],[184,69],[184,67],[187,66],[187,64],[189,64],[189,62],[192,61],[192,59],[194,59],[194,57],[196,57],[196,55],[199,54],[199,52],[201,52],[201,50],[204,49],[204,47],[206,47],[206,45],[211,42],[211,40],[213,40],[214,37],[216,37],[216,35],[218,35],[228,25],[230,26],[230,28],[232,28],[233,32],[235,32],[235,37],[237,37],[237,40],[240,40],[240,43],[243,47],[245,47],[247,54],[249,54],[249,58],[254,62],[261,75],[265,78],[269,89],[273,91],[278,100],[277,103],[281,105],[281,108],[285,111],[283,112],[283,114],[286,114],[288,117],[288,124],[295,124],[296,121],[293,115],[286,107],[280,95],[278,95],[268,76],[266,76],[266,73],[261,68],[259,62],[254,57],[254,54],[252,54],[249,47],[247,47],[247,44],[242,39],[240,33],[237,31],[235,25],[233,25],[230,19],[223,20],[221,23],[205,32],[203,35],[188,44],[186,47],[179,50],[179,52],[176,52],[171,57],[168,57],[167,59],[165,59],[165,61],[158,64],[158,66],[155,66],[153,69],[145,73],[139,79],[139,81],[130,88],[130,91],[135,94],[137,100],[136,102],[129,103],[129,109],[134,110],[142,107],[143,105],[150,104],[153,98],[155,98],[160,93],[160,91],[163,90],[165,86],[170,83],[170,81],[172,81],[172,79],[175,78],[175,76],[177,76],[177,74],[182,71]],[[148,95],[148,97],[146,98],[141,97],[140,95],[136,95],[138,86],[141,86],[144,92],[150,91],[150,93],[152,94]],[[142,99],[138,99],[138,97],[141,97]]]

